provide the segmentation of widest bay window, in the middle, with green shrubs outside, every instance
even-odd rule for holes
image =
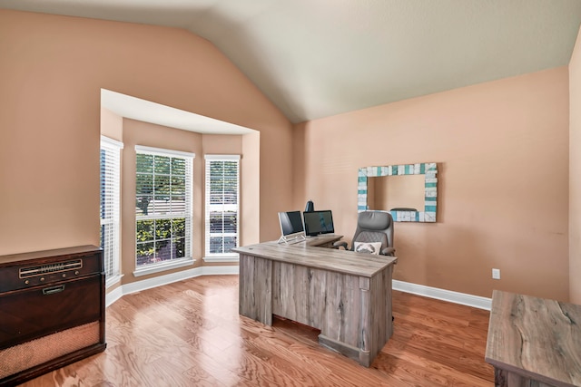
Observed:
[[[135,260],[171,266],[192,260],[193,153],[135,146]]]

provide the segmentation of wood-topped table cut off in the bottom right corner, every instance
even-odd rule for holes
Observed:
[[[581,305],[495,290],[485,359],[497,386],[581,386]]]

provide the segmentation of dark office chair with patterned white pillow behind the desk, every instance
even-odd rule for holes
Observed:
[[[359,212],[357,229],[353,236],[351,247],[347,242],[335,242],[333,247],[343,247],[346,250],[394,256],[393,218],[385,211]]]

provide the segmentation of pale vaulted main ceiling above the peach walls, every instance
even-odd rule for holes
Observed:
[[[292,122],[566,65],[580,0],[0,0],[186,28]]]

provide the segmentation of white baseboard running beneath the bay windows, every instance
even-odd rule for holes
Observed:
[[[216,276],[216,275],[235,275],[238,274],[238,266],[201,266],[189,270],[182,270],[165,276],[155,276],[153,278],[143,279],[127,285],[121,285],[105,295],[105,306],[112,305],[123,295],[141,292],[142,290],[153,287],[172,284],[172,282],[182,281],[195,276]]]

